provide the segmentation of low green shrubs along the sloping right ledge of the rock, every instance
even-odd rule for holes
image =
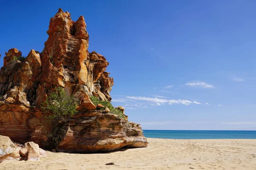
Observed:
[[[116,114],[121,118],[125,118],[125,116],[122,114],[122,111],[114,108],[110,102],[99,100],[99,98],[96,96],[90,96],[90,100],[93,102],[94,105],[102,104],[104,107],[109,108],[111,113]]]

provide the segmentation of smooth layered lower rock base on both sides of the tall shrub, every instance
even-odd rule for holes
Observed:
[[[49,124],[44,113],[35,107],[0,101],[0,134],[14,142],[35,142],[45,148]],[[128,122],[113,113],[80,112],[67,125],[67,133],[57,151],[95,153],[122,147],[147,147],[139,124]]]

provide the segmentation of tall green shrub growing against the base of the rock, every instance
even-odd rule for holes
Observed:
[[[51,130],[47,132],[47,141],[44,144],[52,148],[57,148],[58,144],[63,140],[67,133],[67,122],[78,111],[76,107],[78,103],[74,96],[68,96],[63,88],[55,88],[55,91],[50,93],[46,101],[42,103],[44,113],[52,113],[47,116],[50,122]]]

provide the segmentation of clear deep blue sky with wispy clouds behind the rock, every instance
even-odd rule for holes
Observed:
[[[256,1],[4,1],[4,52],[42,51],[58,8],[110,62],[113,105],[143,129],[256,130]]]

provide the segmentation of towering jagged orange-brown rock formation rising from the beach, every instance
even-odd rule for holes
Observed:
[[[108,108],[98,109],[90,100],[96,96],[111,102],[113,78],[106,72],[108,62],[95,51],[88,52],[89,35],[84,17],[74,22],[70,13],[59,9],[51,18],[44,50],[31,50],[24,61],[12,48],[0,70],[0,134],[13,141],[33,141],[44,147],[49,123],[41,103],[55,87],[63,87],[79,101],[79,113],[67,125],[67,134],[58,150],[76,153],[146,147],[148,142],[139,124],[128,122]],[[124,113],[124,109],[119,107]]]

